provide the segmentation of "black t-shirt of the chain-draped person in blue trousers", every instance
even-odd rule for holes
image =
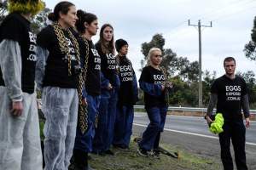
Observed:
[[[91,96],[97,96],[101,94],[101,57],[98,54],[95,45],[90,40],[87,40],[89,44],[89,59],[87,64],[87,73],[85,81],[85,89]],[[81,64],[84,68],[84,61],[86,55],[86,46],[82,37],[79,38]]]

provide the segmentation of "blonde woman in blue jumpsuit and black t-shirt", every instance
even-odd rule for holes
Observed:
[[[159,156],[160,133],[166,122],[167,101],[166,91],[172,88],[172,83],[166,81],[166,73],[160,67],[162,60],[160,48],[151,48],[148,53],[148,65],[143,68],[139,79],[140,88],[144,92],[145,109],[150,123],[138,143],[139,155],[148,156],[153,150],[153,156]]]

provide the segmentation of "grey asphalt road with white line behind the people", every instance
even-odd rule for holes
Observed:
[[[133,133],[141,135],[148,122],[146,113],[135,113]],[[256,122],[251,122],[246,138],[247,165],[249,169],[256,170]],[[218,135],[208,131],[207,122],[202,117],[167,116],[165,132],[161,135],[161,141],[220,161]]]

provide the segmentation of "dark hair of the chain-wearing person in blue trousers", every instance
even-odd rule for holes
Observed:
[[[77,16],[79,20],[76,21],[76,27],[79,33],[85,32],[84,22],[90,25],[94,20],[97,20],[97,17],[95,14],[86,13],[81,9],[77,11]]]

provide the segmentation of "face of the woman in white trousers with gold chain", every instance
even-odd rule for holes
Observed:
[[[60,17],[61,17],[61,20],[63,20],[68,27],[74,27],[76,24],[76,21],[78,20],[76,7],[75,6],[69,7],[67,14],[60,13]]]

